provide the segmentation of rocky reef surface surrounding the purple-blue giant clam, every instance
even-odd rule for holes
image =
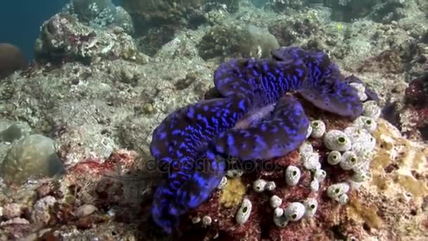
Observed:
[[[195,6],[205,1],[132,2],[173,6],[180,26],[132,36],[123,25],[94,26],[68,8],[42,25],[36,60],[0,80],[0,240],[170,240],[150,215],[161,180],[151,166],[153,130],[168,113],[215,97],[213,73],[222,61],[289,45],[322,49],[345,76],[377,92],[382,114],[363,112],[374,120],[362,127],[373,144],[367,175],[335,163],[334,154],[349,155],[325,140],[358,123],[301,99],[313,128],[307,142],[270,160],[271,169],[229,171],[182,217],[173,240],[428,238],[425,1],[384,5],[347,22],[334,21],[344,16],[336,3],[271,1],[263,10],[230,1],[233,11],[199,12]],[[130,16],[146,14],[137,11]],[[205,24],[189,25],[188,11]],[[311,171],[310,164],[320,166]]]

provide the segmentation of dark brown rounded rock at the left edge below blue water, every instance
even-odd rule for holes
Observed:
[[[0,43],[0,81],[16,70],[25,68],[27,68],[27,60],[18,47]]]

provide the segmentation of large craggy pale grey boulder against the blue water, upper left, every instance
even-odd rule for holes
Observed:
[[[130,35],[120,27],[96,30],[65,13],[56,14],[42,25],[36,41],[37,61],[92,63],[101,58],[123,58],[146,63],[148,56],[138,51]]]

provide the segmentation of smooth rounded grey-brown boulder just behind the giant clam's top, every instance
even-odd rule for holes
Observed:
[[[215,25],[198,44],[199,55],[209,58],[266,58],[277,49],[277,39],[269,31],[253,25]]]

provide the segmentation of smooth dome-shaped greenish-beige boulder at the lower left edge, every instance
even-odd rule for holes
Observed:
[[[22,184],[30,177],[61,175],[64,166],[55,142],[43,135],[29,135],[9,149],[0,167],[6,182]]]

